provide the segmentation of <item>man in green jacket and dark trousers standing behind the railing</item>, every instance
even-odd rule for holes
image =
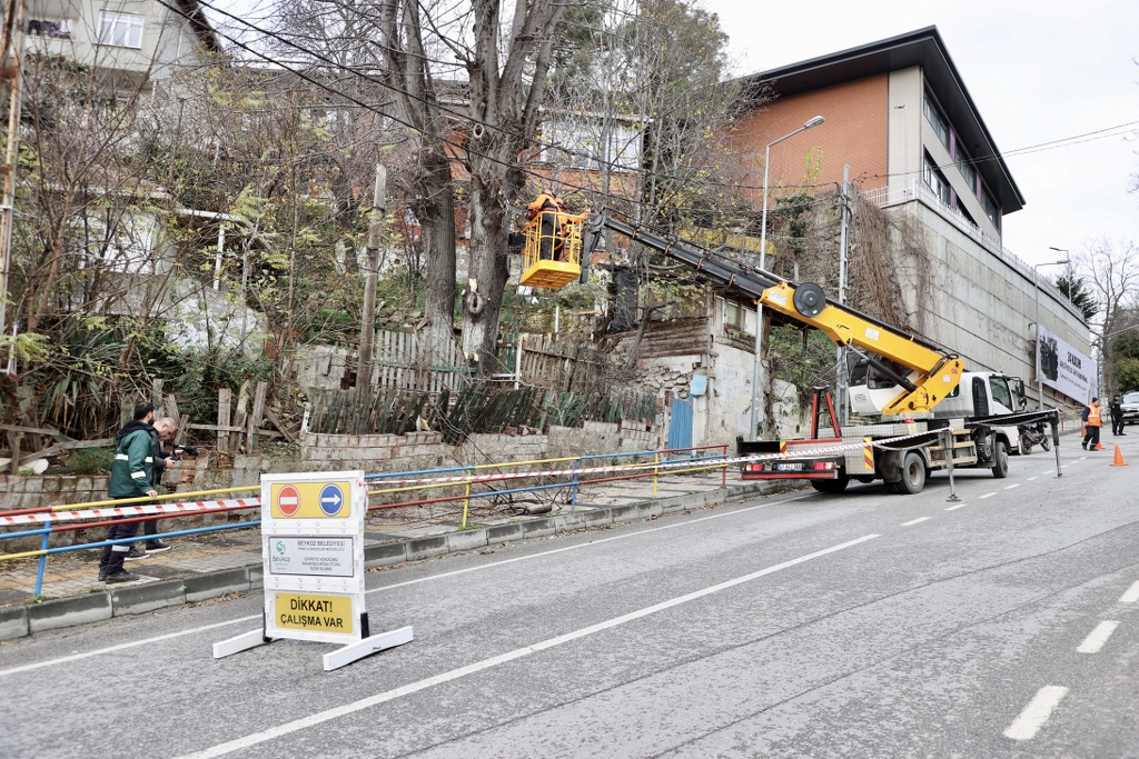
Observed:
[[[154,487],[154,459],[158,455],[155,440],[154,404],[134,404],[134,419],[115,436],[115,462],[110,465],[110,485],[107,495],[112,498],[140,498],[158,495]],[[120,518],[122,519],[122,518]],[[108,541],[129,541],[139,531],[139,522],[116,522],[107,528]],[[99,560],[99,579],[106,583],[131,583],[138,575],[123,569],[123,561],[131,550],[131,543],[116,543],[103,547]]]

